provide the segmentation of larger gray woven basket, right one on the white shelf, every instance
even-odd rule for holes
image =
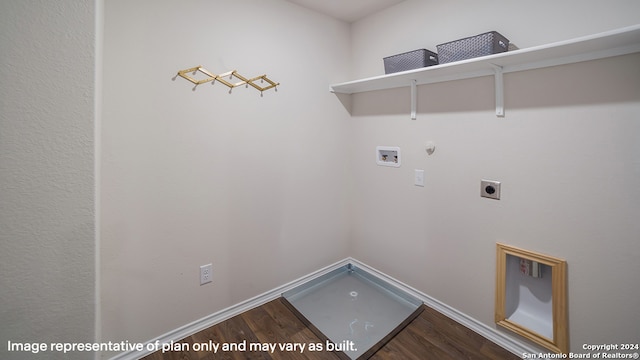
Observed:
[[[505,52],[509,40],[496,31],[437,45],[440,64]]]

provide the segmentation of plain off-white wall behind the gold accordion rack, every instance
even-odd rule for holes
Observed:
[[[280,0],[107,1],[103,341],[146,341],[348,256],[349,26]],[[263,97],[172,78],[266,73]],[[213,284],[199,266],[213,263]]]

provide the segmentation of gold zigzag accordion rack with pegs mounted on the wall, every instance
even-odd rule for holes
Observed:
[[[200,78],[200,79],[196,79],[195,76],[200,73],[202,75],[204,75],[204,78]],[[191,75],[189,75],[191,74]],[[183,79],[186,79],[188,81],[190,81],[191,83],[195,84],[194,86],[194,90],[196,89],[196,87],[198,87],[198,85],[201,84],[206,84],[208,82],[211,82],[212,84],[214,82],[219,82],[224,84],[225,86],[227,86],[229,88],[229,93],[231,93],[231,90],[233,90],[233,88],[238,87],[238,86],[242,86],[245,85],[246,87],[248,87],[249,85],[251,85],[251,87],[253,87],[254,89],[260,91],[260,96],[262,96],[262,92],[265,90],[269,90],[269,89],[274,89],[275,91],[278,91],[277,86],[280,85],[280,83],[274,82],[272,80],[270,80],[267,75],[260,75],[260,76],[256,76],[253,77],[251,79],[245,78],[244,76],[240,75],[236,70],[233,71],[229,71],[226,72],[224,74],[220,74],[220,75],[216,75],[212,72],[210,72],[209,70],[203,68],[202,66],[198,65],[196,67],[192,67],[189,69],[184,69],[184,70],[180,70],[178,71],[178,74],[176,74],[176,76],[173,78],[174,80],[180,76]],[[235,82],[232,83],[230,81],[227,81],[227,77],[229,78],[229,80],[232,80],[233,78],[239,79],[239,82]],[[260,86],[256,83],[256,81],[260,80],[260,83],[264,83],[267,82],[267,86]]]

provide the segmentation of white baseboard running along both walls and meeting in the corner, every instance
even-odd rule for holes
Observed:
[[[175,330],[169,331],[168,333],[161,335],[155,339],[149,340],[148,342],[146,342],[146,344],[150,344],[150,343],[160,343],[160,344],[165,344],[165,343],[170,343],[170,342],[177,342],[180,341],[182,339],[184,339],[185,337],[191,336],[199,331],[202,331],[204,329],[207,329],[213,325],[216,325],[218,323],[221,323],[227,319],[230,319],[236,315],[239,315],[245,311],[251,310],[253,308],[256,308],[258,306],[264,305],[266,303],[268,303],[269,301],[275,300],[277,298],[279,298],[282,293],[291,290],[299,285],[302,285],[308,281],[311,281],[317,277],[320,277],[322,275],[325,275],[333,270],[336,270],[340,267],[346,266],[348,264],[353,264],[354,266],[356,266],[357,268],[360,268],[366,272],[368,272],[369,274],[377,277],[378,279],[380,279],[383,282],[386,282],[388,284],[390,284],[391,286],[394,286],[402,291],[407,292],[408,294],[416,297],[417,299],[419,299],[420,301],[422,301],[425,305],[441,312],[442,314],[446,315],[447,317],[451,318],[454,321],[457,321],[458,323],[468,327],[469,329],[477,332],[478,334],[482,335],[483,337],[489,339],[490,341],[496,343],[497,345],[503,347],[504,349],[516,354],[516,355],[522,355],[524,353],[537,353],[538,351],[527,346],[525,343],[520,342],[512,337],[507,336],[506,334],[503,334],[501,332],[498,332],[496,329],[493,329],[475,319],[473,319],[472,317],[428,296],[427,294],[424,294],[406,284],[404,284],[401,281],[398,281],[392,277],[390,277],[389,275],[382,273],[354,258],[346,258],[344,260],[340,260],[332,265],[329,265],[327,267],[324,267],[320,270],[314,271],[308,275],[305,275],[299,279],[296,279],[294,281],[291,281],[287,284],[284,284],[282,286],[279,286],[275,289],[272,289],[270,291],[267,291],[263,294],[260,294],[258,296],[255,296],[251,299],[245,300],[243,302],[240,302],[236,305],[230,306],[226,309],[220,310],[218,312],[215,312],[211,315],[205,316],[202,319],[196,320],[190,324],[186,324],[184,326],[181,326]],[[112,357],[110,360],[137,360],[140,359],[141,357],[144,357],[146,355],[151,354],[153,351],[148,351],[148,350],[143,350],[143,351],[127,351],[127,352],[123,352],[120,353],[114,357]]]

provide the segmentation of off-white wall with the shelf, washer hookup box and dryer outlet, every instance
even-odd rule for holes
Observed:
[[[383,56],[488,30],[528,47],[640,23],[637,2],[521,4],[403,2],[353,25],[354,73],[379,75]],[[571,349],[637,342],[638,63],[507,74],[504,118],[490,77],[420,86],[416,121],[408,88],[353,95],[352,255],[488,326],[495,243],[558,256]],[[400,146],[402,167],[377,166],[376,145]],[[502,181],[500,201],[480,197],[483,178]]]

